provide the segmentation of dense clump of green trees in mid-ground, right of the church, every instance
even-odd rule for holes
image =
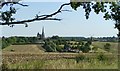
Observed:
[[[84,53],[87,53],[91,50],[90,45],[92,44],[91,41],[85,42],[75,42],[74,44],[70,43],[70,41],[66,40],[60,40],[60,39],[50,39],[46,40],[44,44],[44,48],[47,52],[79,52],[82,51]]]

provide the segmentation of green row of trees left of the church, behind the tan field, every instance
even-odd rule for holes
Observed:
[[[11,44],[26,44],[35,43],[38,40],[37,37],[2,37],[2,49]]]

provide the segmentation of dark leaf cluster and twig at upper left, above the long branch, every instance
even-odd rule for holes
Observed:
[[[0,9],[3,8],[3,6],[8,6],[8,10],[3,11],[1,10],[0,12],[0,18],[3,22],[5,23],[9,23],[9,22],[13,22],[15,20],[15,18],[13,17],[13,15],[16,14],[17,9],[13,6],[14,4],[19,4],[21,6],[27,6],[27,5],[23,5],[19,3],[20,0],[2,0],[0,3]],[[10,24],[8,24],[10,25]],[[14,25],[11,25],[10,27],[13,27]]]

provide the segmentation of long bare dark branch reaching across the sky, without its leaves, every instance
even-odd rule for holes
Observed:
[[[14,21],[14,22],[4,22],[4,23],[0,23],[0,25],[24,24],[24,23],[28,23],[28,22],[41,21],[41,20],[57,20],[57,21],[60,21],[61,19],[52,18],[52,17],[54,15],[57,15],[58,13],[61,13],[62,11],[69,11],[69,10],[62,10],[62,8],[66,5],[70,5],[70,3],[62,4],[56,12],[54,12],[52,14],[49,14],[49,15],[40,15],[40,16],[36,15],[36,17],[33,18],[33,19],[22,20],[22,21]]]

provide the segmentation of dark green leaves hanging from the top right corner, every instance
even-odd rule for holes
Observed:
[[[85,10],[86,19],[89,18],[91,11],[94,10],[96,14],[99,14],[100,12],[104,13],[103,18],[105,18],[105,20],[111,19],[115,21],[115,28],[118,29],[118,38],[120,42],[120,1],[93,3],[78,2],[77,0],[71,0],[70,5],[74,10],[77,10],[78,7],[83,7],[83,9]],[[109,7],[109,9],[107,9],[107,7]]]

